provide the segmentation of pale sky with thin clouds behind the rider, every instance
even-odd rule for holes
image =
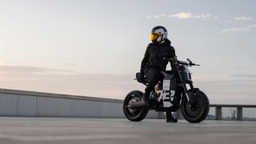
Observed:
[[[165,26],[210,103],[256,103],[254,0],[0,0],[0,88],[123,99]],[[170,67],[170,66],[169,66]]]

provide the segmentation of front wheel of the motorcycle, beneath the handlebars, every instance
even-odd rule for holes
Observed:
[[[187,101],[186,96],[182,98],[181,111],[186,121],[191,123],[202,122],[206,119],[210,110],[209,100],[201,90],[192,93],[192,104]]]

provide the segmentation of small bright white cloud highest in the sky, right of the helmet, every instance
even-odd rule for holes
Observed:
[[[211,14],[197,14],[197,13],[178,13],[178,14],[170,14],[170,18],[178,18],[178,19],[189,19],[196,18],[202,20],[213,20],[217,19],[217,16],[213,16]]]

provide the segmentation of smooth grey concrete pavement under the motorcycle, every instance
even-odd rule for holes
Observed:
[[[256,143],[256,122],[111,118],[0,118],[1,144]]]

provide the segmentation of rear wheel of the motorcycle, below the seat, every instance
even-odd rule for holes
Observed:
[[[139,102],[142,100],[143,93],[141,91],[131,91],[129,94],[126,95],[126,98],[123,102],[122,110],[125,114],[126,118],[132,122],[140,122],[148,113],[148,109],[130,109],[127,106],[133,102]]]

